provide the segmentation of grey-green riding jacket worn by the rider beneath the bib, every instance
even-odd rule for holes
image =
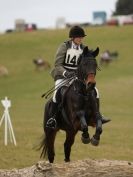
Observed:
[[[71,40],[66,41],[59,46],[56,52],[54,68],[51,71],[51,76],[54,78],[54,80],[64,78],[63,72],[67,71],[67,69],[64,68],[64,60],[66,57],[67,49],[70,48],[71,45],[72,45]],[[85,46],[81,44],[80,47],[83,49]]]

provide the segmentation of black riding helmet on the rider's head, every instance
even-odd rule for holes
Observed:
[[[69,31],[69,38],[85,37],[86,34],[80,26],[73,26]]]

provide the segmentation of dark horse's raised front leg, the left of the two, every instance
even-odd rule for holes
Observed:
[[[84,144],[90,143],[90,136],[88,133],[88,125],[85,119],[85,112],[84,111],[78,111],[77,116],[80,119],[80,124],[81,124],[81,130],[82,130],[82,137],[81,140]]]

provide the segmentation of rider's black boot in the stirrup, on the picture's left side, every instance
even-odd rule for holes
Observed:
[[[56,114],[57,114],[57,111],[58,111],[58,104],[54,103],[52,101],[52,103],[51,103],[51,110],[50,111],[51,111],[50,118],[48,119],[48,121],[46,123],[46,127],[55,129],[56,125],[57,125]]]

